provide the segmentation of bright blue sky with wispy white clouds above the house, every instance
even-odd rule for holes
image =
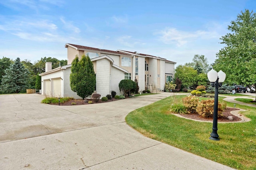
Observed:
[[[67,59],[72,43],[213,63],[230,22],[255,8],[255,0],[2,0],[0,57]]]

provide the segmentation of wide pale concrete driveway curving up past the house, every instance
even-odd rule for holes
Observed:
[[[0,95],[0,169],[232,169],[126,125],[130,111],[170,95],[84,106],[40,104],[39,94]]]

